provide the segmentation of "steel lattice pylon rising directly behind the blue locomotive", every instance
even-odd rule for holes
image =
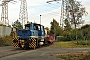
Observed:
[[[27,24],[28,21],[28,12],[27,12],[27,1],[26,0],[20,0],[20,13],[19,13],[19,21],[22,21],[23,29],[24,25]]]

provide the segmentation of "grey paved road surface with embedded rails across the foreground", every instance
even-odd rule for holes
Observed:
[[[51,45],[52,46],[52,45]],[[53,54],[65,54],[90,51],[90,48],[51,48],[51,46],[37,49],[22,50],[20,48],[0,48],[0,60],[60,60]]]

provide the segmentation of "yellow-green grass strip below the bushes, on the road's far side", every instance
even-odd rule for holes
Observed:
[[[88,41],[90,42],[90,41]],[[52,47],[55,48],[88,48],[90,47],[90,43],[86,45],[85,41],[78,41],[78,44],[76,41],[69,41],[69,42],[55,42]]]

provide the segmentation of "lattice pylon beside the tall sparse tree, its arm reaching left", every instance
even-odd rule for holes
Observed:
[[[58,2],[61,1],[61,16],[60,16],[60,26],[64,28],[64,20],[68,19],[69,20],[69,0],[52,0],[52,1],[47,1],[47,3],[51,2]]]

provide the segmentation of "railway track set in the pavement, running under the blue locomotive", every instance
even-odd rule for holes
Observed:
[[[49,45],[47,45],[49,46]],[[36,48],[35,50],[47,47],[47,46],[41,46],[39,48]],[[23,53],[23,52],[27,52],[27,51],[34,51],[34,49],[20,49],[20,48],[14,48],[14,47],[2,47],[0,48],[0,58],[4,58],[7,56],[11,56],[11,55],[15,55],[15,54],[19,54],[19,53]]]

